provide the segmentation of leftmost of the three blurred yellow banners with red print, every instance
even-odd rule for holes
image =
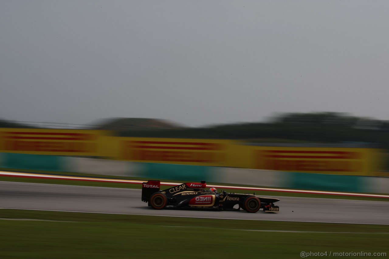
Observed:
[[[75,129],[0,129],[0,152],[100,156],[98,141],[102,131]]]

